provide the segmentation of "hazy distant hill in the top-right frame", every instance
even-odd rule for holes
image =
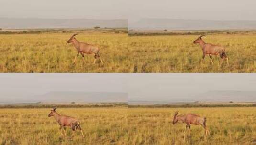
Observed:
[[[182,20],[182,19],[141,19],[129,23],[129,30],[226,30],[256,29],[256,21],[234,20]]]

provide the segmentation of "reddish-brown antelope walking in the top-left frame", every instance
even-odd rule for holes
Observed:
[[[74,36],[76,36],[78,34],[74,34],[72,35],[72,37],[67,41],[67,43],[73,43],[73,45],[75,46],[75,48],[78,51],[78,54],[76,55],[73,64],[76,63],[77,61],[77,57],[79,56],[79,54],[82,55],[82,57],[84,58],[84,63],[85,63],[85,57],[84,54],[94,54],[94,64],[97,60],[97,58],[100,59],[100,49],[97,46],[91,45],[91,44],[87,44],[84,42],[79,42]],[[103,61],[100,59],[100,62],[103,64]]]

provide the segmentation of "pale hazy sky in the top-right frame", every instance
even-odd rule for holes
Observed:
[[[256,0],[129,1],[129,22],[140,18],[256,20]]]

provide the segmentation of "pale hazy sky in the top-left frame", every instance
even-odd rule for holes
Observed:
[[[0,17],[127,19],[128,0],[0,0]]]

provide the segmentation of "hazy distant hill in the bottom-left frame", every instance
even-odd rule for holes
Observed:
[[[1,103],[114,103],[127,102],[128,93],[122,92],[72,92],[56,91],[40,96],[9,97]]]

